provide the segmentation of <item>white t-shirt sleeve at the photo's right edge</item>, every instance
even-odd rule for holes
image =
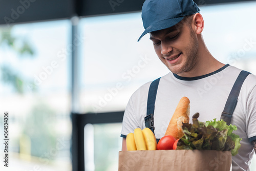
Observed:
[[[246,133],[251,142],[256,140],[256,86],[249,94],[246,111]]]

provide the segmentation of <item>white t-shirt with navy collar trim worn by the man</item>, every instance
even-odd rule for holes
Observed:
[[[199,77],[180,77],[173,73],[161,77],[154,111],[156,138],[164,136],[179,100],[186,96],[190,100],[190,123],[192,116],[199,112],[199,121],[220,119],[228,95],[236,81],[240,69],[225,65],[221,69]],[[151,82],[141,86],[130,98],[126,106],[121,137],[134,132],[137,127],[144,129],[148,89]],[[236,156],[232,156],[232,170],[250,170],[254,155],[250,141],[256,139],[256,76],[249,74],[241,88],[231,124],[237,125],[243,140]]]

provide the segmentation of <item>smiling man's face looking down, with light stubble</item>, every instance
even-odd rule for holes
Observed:
[[[188,72],[196,66],[198,39],[188,25],[151,32],[150,39],[159,59],[173,73]]]

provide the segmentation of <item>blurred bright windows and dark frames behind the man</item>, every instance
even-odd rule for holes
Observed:
[[[169,72],[148,35],[137,42],[144,30],[140,11],[119,12],[125,1],[108,1],[98,4],[108,14],[88,9],[92,15],[86,17],[28,22],[23,16],[39,0],[19,3],[1,7],[7,13],[0,25],[0,127],[9,112],[8,170],[71,171],[71,113],[96,118],[83,128],[84,161],[79,162],[86,170],[118,170],[121,121],[104,123],[97,114],[123,112],[135,90]],[[256,74],[256,1],[198,5],[212,55]]]

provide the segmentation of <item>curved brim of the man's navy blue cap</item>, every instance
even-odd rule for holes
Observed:
[[[177,17],[177,18],[164,19],[164,20],[154,23],[151,26],[148,26],[145,29],[145,31],[141,34],[138,41],[141,39],[141,37],[143,37],[147,33],[173,27],[174,25],[178,24],[183,18],[184,18],[184,16]]]

